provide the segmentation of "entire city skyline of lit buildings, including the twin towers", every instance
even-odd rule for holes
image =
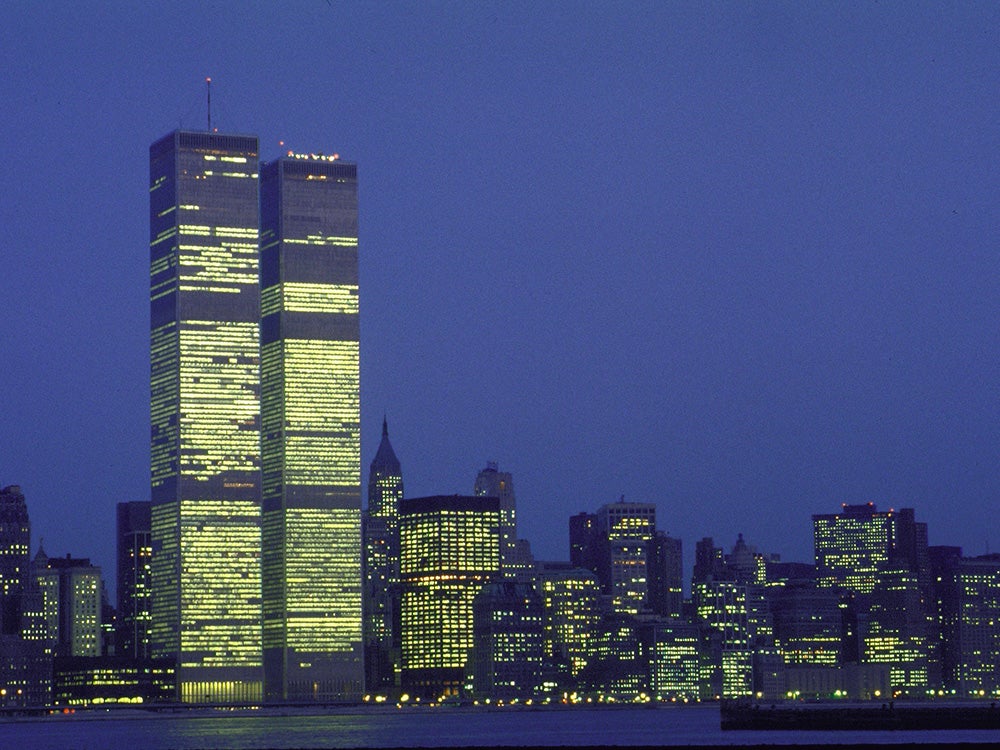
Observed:
[[[1000,556],[912,509],[813,517],[815,561],[695,547],[649,503],[535,560],[513,480],[407,498],[383,421],[361,502],[357,167],[254,136],[150,147],[151,499],[117,603],[32,556],[0,492],[0,708],[1000,695]]]

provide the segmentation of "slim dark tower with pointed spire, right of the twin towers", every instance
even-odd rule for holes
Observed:
[[[399,504],[403,470],[382,420],[382,441],[368,474],[363,516],[365,686],[379,692],[396,683],[399,667]]]

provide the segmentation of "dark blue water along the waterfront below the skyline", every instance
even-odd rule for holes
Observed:
[[[321,715],[78,713],[0,720],[0,747],[134,750],[177,748],[339,748],[1000,744],[1000,730],[933,732],[723,732],[717,706],[546,708],[541,710],[420,708],[341,710]]]

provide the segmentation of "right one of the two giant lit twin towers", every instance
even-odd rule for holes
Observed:
[[[357,166],[290,154],[260,179],[268,700],[363,686]]]

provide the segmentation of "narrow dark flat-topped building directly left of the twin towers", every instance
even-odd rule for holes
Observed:
[[[117,656],[149,658],[150,503],[118,503],[118,638]]]

